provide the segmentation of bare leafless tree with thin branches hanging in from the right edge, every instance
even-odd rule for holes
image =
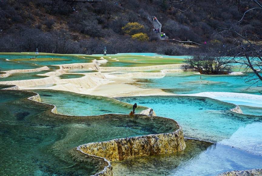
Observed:
[[[262,81],[262,30],[257,26],[258,32],[243,28],[247,22],[260,15],[262,18],[262,4],[259,0],[242,0],[246,3],[246,10],[239,21],[226,28],[218,28],[217,34],[221,34],[225,40],[230,41],[227,47],[227,55],[232,56],[233,63],[240,66],[246,82],[261,84]]]

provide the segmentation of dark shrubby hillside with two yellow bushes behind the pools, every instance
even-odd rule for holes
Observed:
[[[113,3],[115,2],[115,3]],[[121,4],[121,7],[116,5]],[[159,41],[148,16],[155,15],[170,39],[185,38],[221,47],[230,43],[212,35],[219,27],[240,20],[252,4],[225,0],[121,0],[75,2],[70,0],[0,1],[0,52],[49,53],[154,52],[191,55],[200,47]],[[244,21],[240,30],[258,33],[262,15]]]

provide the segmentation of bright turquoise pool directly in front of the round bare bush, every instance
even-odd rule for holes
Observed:
[[[245,83],[234,75],[201,75],[193,72],[170,73],[163,78],[140,79],[145,88],[160,88],[169,93],[191,94],[200,92],[236,92],[262,94],[262,87]],[[251,87],[250,87],[251,86]]]

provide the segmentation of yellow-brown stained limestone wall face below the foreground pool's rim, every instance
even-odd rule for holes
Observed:
[[[88,155],[103,157],[109,161],[119,161],[133,157],[179,152],[185,147],[183,130],[179,126],[179,129],[171,133],[113,139],[105,142],[92,142],[80,145],[77,149]]]

